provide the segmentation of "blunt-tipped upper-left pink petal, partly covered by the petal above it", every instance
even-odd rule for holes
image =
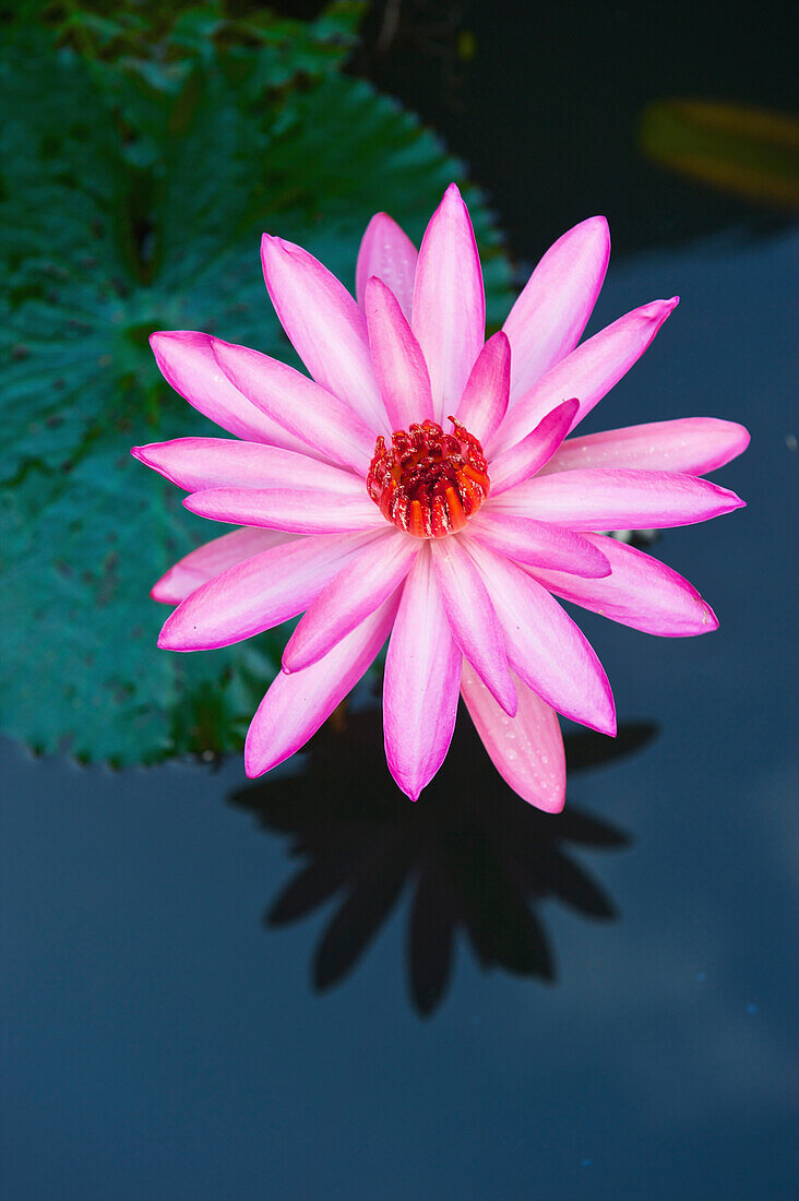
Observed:
[[[209,334],[177,329],[150,335],[150,346],[161,375],[198,412],[229,434],[252,442],[308,450],[304,438],[248,400],[220,370]]]

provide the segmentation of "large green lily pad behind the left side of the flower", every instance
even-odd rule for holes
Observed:
[[[220,6],[173,5],[147,37],[125,24],[133,4],[114,18],[44,7],[52,30],[18,22],[0,62],[2,728],[118,764],[222,752],[240,746],[286,634],[198,655],[155,646],[166,610],[151,582],[229,527],[186,513],[129,455],[219,432],[163,383],[147,337],[204,329],[291,358],[262,229],[351,285],[371,214],[418,239],[463,168],[340,73],[354,5],[306,25],[261,10],[257,36],[220,25]],[[507,265],[467,196],[499,321]]]

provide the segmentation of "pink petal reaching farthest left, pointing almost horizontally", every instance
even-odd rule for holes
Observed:
[[[160,472],[178,488],[198,492],[225,484],[240,488],[299,485],[350,495],[350,471],[341,471],[296,450],[264,446],[263,442],[233,442],[229,438],[174,438],[133,447],[135,459]],[[363,483],[360,483],[363,488]]]

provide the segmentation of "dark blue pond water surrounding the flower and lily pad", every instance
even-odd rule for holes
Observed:
[[[568,731],[555,819],[465,722],[411,806],[368,689],[255,784],[5,743],[4,1196],[793,1195],[799,234],[634,138],[651,100],[789,107],[787,6],[741,12],[417,4],[384,52],[372,16],[354,70],[445,132],[520,262],[608,215],[592,328],[681,294],[591,428],[750,428],[718,474],[749,508],[655,546],[721,628],[580,616],[622,736]]]

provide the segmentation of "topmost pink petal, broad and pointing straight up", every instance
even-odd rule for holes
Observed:
[[[428,364],[441,424],[455,412],[485,337],[483,273],[469,210],[454,184],[422,239],[411,324]]]

